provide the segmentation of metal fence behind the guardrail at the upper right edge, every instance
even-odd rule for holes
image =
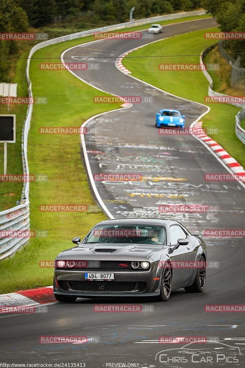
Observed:
[[[245,89],[245,69],[240,67],[241,56],[238,55],[235,60],[223,46],[226,45],[226,41],[222,40],[218,42],[219,52],[222,54],[227,63],[231,66],[230,84],[234,88]]]

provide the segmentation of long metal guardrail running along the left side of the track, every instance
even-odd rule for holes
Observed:
[[[96,29],[90,29],[89,31],[82,31],[78,33],[73,33],[71,35],[66,35],[58,38],[53,38],[48,41],[40,42],[30,50],[27,66],[26,66],[26,79],[28,82],[28,93],[29,97],[33,97],[32,95],[32,82],[29,77],[29,67],[30,67],[30,59],[32,55],[37,51],[42,49],[43,47],[49,45],[55,45],[56,43],[65,42],[69,40],[73,40],[76,38],[86,37],[93,35],[95,32],[105,32],[105,31],[115,31],[117,29],[123,29],[130,26],[143,25],[147,23],[160,22],[164,20],[173,20],[173,19],[181,19],[185,17],[194,17],[195,15],[204,15],[206,14],[206,10],[196,10],[196,11],[188,11],[185,13],[176,13],[176,14],[168,14],[168,15],[160,15],[159,17],[145,18],[140,19],[133,22],[126,22],[121,24],[115,24],[107,27],[101,27]],[[22,152],[22,164],[23,164],[23,173],[29,175],[29,167],[27,160],[27,138],[28,132],[30,129],[30,121],[32,117],[32,108],[33,105],[28,105],[26,118],[24,121],[24,126],[22,130],[22,138],[21,138],[21,152]],[[29,229],[29,181],[24,183],[22,196],[21,196],[21,204],[19,206],[13,207],[6,211],[0,212],[0,231],[8,231],[8,230],[28,230]],[[0,260],[6,258],[13,254],[18,250],[21,245],[25,244],[29,238],[8,238],[8,237],[0,237]]]

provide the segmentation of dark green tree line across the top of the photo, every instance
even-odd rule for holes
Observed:
[[[201,7],[217,18],[222,31],[244,31],[245,0],[0,0],[0,32],[27,32],[29,27],[42,28],[61,15],[72,19],[92,11],[91,20],[115,24],[129,21],[134,7],[135,19],[190,11]],[[91,13],[90,13],[91,14]],[[231,52],[245,52],[245,42],[231,41]],[[18,54],[18,43],[0,40],[0,81],[8,81],[10,61],[4,59]],[[242,56],[245,65],[245,56]]]

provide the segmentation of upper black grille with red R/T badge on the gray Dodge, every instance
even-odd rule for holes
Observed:
[[[96,262],[96,261],[95,261]],[[109,271],[124,271],[124,272],[128,272],[128,271],[135,271],[135,272],[143,272],[143,271],[149,271],[149,268],[147,268],[146,270],[139,267],[137,269],[134,269],[131,266],[131,261],[98,261],[99,266],[93,266],[93,262],[88,262],[88,265],[86,267],[83,268],[76,268],[76,267],[72,267],[72,268],[68,268],[68,267],[64,267],[64,268],[58,268],[57,266],[55,266],[55,268],[57,270],[61,269],[61,270],[80,270],[80,271],[84,271],[84,270],[88,270],[88,269],[93,269],[94,271],[96,270],[109,270]]]

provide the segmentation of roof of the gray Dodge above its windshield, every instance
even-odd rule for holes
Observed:
[[[128,218],[128,219],[111,219],[99,222],[97,225],[113,225],[113,224],[130,224],[130,225],[158,225],[158,226],[170,226],[172,224],[179,223],[175,220],[157,219],[157,218]]]

